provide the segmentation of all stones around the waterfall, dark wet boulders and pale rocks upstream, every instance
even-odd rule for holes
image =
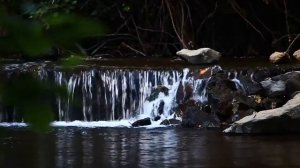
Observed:
[[[219,61],[221,57],[219,52],[210,48],[183,49],[176,54],[191,64],[210,64]],[[300,50],[295,51],[293,56],[300,60]],[[290,59],[287,52],[274,52],[270,56],[272,63],[287,59]],[[161,124],[227,128],[224,131],[226,133],[300,132],[300,129],[295,129],[300,128],[300,71],[288,72],[280,68],[245,70],[238,77],[243,86],[239,88],[233,81],[235,77],[228,75],[229,72],[207,69],[204,73],[202,70],[196,73],[202,77],[210,77],[205,88],[207,101],[203,103],[193,99],[194,86],[181,84],[176,96],[178,107],[175,110],[181,121],[165,120]],[[161,88],[156,89],[152,96],[168,92]],[[292,124],[289,125],[288,122]],[[150,125],[151,119],[137,121],[133,126],[145,123]]]

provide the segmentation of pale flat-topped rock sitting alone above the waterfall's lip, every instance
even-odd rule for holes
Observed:
[[[177,55],[191,64],[209,64],[219,61],[221,53],[210,48],[199,48],[197,50],[182,49]]]

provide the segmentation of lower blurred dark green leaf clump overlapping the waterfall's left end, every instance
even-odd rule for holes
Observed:
[[[49,122],[54,119],[51,98],[67,95],[64,87],[28,73],[20,73],[0,84],[1,102],[16,108],[24,122],[30,123],[36,131],[48,130]]]

